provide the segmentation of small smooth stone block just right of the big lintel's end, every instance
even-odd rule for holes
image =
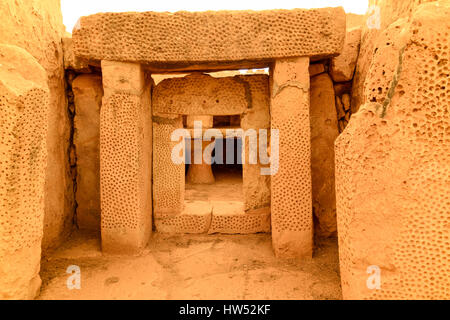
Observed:
[[[334,82],[346,82],[353,79],[356,61],[358,60],[361,28],[347,31],[342,53],[331,59],[330,75]]]

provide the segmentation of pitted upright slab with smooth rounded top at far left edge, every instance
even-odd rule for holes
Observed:
[[[49,89],[24,49],[0,45],[0,300],[39,291]]]

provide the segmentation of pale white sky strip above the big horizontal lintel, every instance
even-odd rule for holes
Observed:
[[[78,18],[98,12],[265,10],[344,7],[346,12],[364,14],[368,0],[61,0],[64,24],[69,32]]]

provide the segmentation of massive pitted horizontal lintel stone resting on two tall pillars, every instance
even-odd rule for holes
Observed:
[[[186,32],[189,30],[189,32]],[[94,60],[170,64],[326,58],[342,50],[339,8],[217,12],[99,13],[73,30],[75,55]]]

